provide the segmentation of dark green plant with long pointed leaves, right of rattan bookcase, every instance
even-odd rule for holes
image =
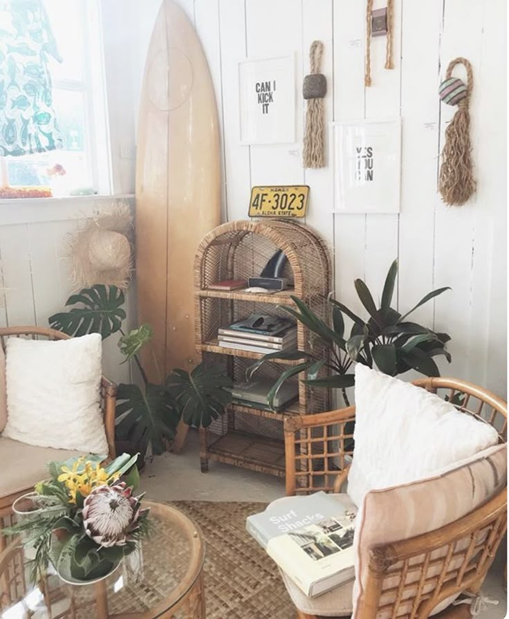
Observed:
[[[250,378],[263,363],[270,360],[301,361],[281,373],[268,394],[269,405],[272,406],[277,390],[288,378],[304,372],[304,382],[308,385],[341,389],[344,403],[348,406],[346,389],[353,387],[355,382],[355,363],[376,367],[389,376],[397,376],[410,369],[425,376],[440,376],[434,357],[443,355],[448,362],[451,361],[446,347],[450,336],[447,333],[435,333],[426,326],[409,321],[408,317],[417,308],[450,288],[433,290],[420,299],[410,311],[401,314],[391,307],[397,275],[398,261],[395,260],[387,273],[378,307],[364,281],[355,279],[355,291],[368,313],[365,319],[332,298],[328,299],[329,322],[318,317],[302,299],[295,296],[292,299],[296,308],[279,306],[279,309],[306,326],[311,337],[307,351],[269,353],[248,369]],[[345,318],[351,322],[348,335]],[[320,378],[318,375],[324,367],[328,369],[330,376]]]

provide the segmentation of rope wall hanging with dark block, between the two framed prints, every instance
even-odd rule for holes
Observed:
[[[302,95],[308,101],[306,112],[306,131],[302,160],[304,167],[324,167],[324,96],[327,92],[327,80],[320,73],[320,64],[324,44],[313,41],[309,49],[311,74],[304,77]]]

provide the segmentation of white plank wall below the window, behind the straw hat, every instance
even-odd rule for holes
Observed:
[[[49,326],[48,317],[64,311],[74,291],[66,257],[69,234],[94,211],[112,204],[112,198],[0,201],[0,326]],[[133,322],[133,300],[129,288],[126,329]],[[119,365],[117,342],[118,334],[104,340],[104,374],[115,382],[131,382],[129,365]]]

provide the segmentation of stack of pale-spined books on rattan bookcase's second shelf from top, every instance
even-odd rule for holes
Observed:
[[[252,314],[219,329],[219,346],[266,355],[297,347],[297,326],[288,318]]]

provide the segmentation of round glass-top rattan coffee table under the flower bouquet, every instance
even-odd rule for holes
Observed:
[[[19,542],[0,555],[0,617],[3,619],[205,619],[201,530],[179,510],[144,501],[151,534],[118,569],[95,584],[66,584],[48,575],[26,578]]]

